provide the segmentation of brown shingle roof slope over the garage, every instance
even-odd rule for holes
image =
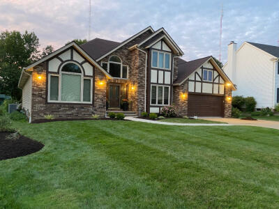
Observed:
[[[195,59],[193,61],[184,61],[183,59],[179,59],[178,66],[179,72],[177,75],[177,79],[174,81],[174,84],[180,84],[183,82],[186,77],[188,77],[192,72],[197,70],[200,65],[202,65],[206,60],[208,60],[211,56],[206,56],[201,59]]]

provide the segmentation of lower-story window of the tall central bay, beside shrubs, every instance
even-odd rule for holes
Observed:
[[[151,104],[169,104],[169,86],[151,85]]]

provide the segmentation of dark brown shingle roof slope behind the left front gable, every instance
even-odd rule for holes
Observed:
[[[93,59],[98,59],[103,54],[110,52],[112,49],[121,45],[121,42],[115,42],[112,40],[105,40],[101,38],[94,38],[89,42],[80,45],[84,51],[89,54]]]

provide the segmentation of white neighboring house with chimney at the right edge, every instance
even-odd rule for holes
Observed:
[[[234,95],[252,96],[257,109],[273,108],[279,103],[279,47],[255,42],[228,46],[227,63],[223,70],[236,84]]]

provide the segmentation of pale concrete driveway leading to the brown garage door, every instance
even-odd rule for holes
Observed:
[[[209,121],[220,121],[232,125],[252,125],[252,126],[259,126],[259,127],[269,127],[269,128],[274,128],[279,130],[278,121],[264,121],[264,120],[247,121],[247,120],[241,120],[239,118],[200,118],[200,119],[205,119]]]

